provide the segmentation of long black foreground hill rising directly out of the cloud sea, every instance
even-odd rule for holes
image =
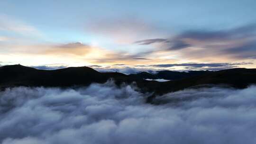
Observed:
[[[145,74],[145,73],[144,73]],[[141,77],[125,75],[119,72],[97,72],[89,67],[69,67],[59,70],[38,70],[22,65],[0,67],[0,88],[15,86],[76,87],[88,86],[91,83],[104,83],[110,78],[117,85],[136,82],[142,92],[152,92],[152,97],[167,92],[183,90],[205,84],[225,84],[234,88],[246,88],[256,83],[256,69],[229,69],[217,72],[203,72],[175,81],[146,81]]]

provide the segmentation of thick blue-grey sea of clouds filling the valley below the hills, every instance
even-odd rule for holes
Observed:
[[[150,94],[112,81],[0,92],[1,144],[256,144],[256,87]]]

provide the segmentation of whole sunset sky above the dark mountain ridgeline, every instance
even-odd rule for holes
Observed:
[[[1,0],[0,65],[256,67],[255,0]]]

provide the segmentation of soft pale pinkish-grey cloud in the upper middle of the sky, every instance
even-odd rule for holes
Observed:
[[[91,18],[86,30],[116,44],[130,44],[138,38],[159,34],[158,27],[136,16]]]

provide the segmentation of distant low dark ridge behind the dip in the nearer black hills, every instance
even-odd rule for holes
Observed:
[[[189,71],[189,72],[174,72],[174,71],[158,71],[155,74],[148,72],[139,72],[137,74],[130,74],[130,77],[139,79],[165,79],[165,80],[180,80],[191,76],[198,76],[202,74],[212,73],[211,71]]]

